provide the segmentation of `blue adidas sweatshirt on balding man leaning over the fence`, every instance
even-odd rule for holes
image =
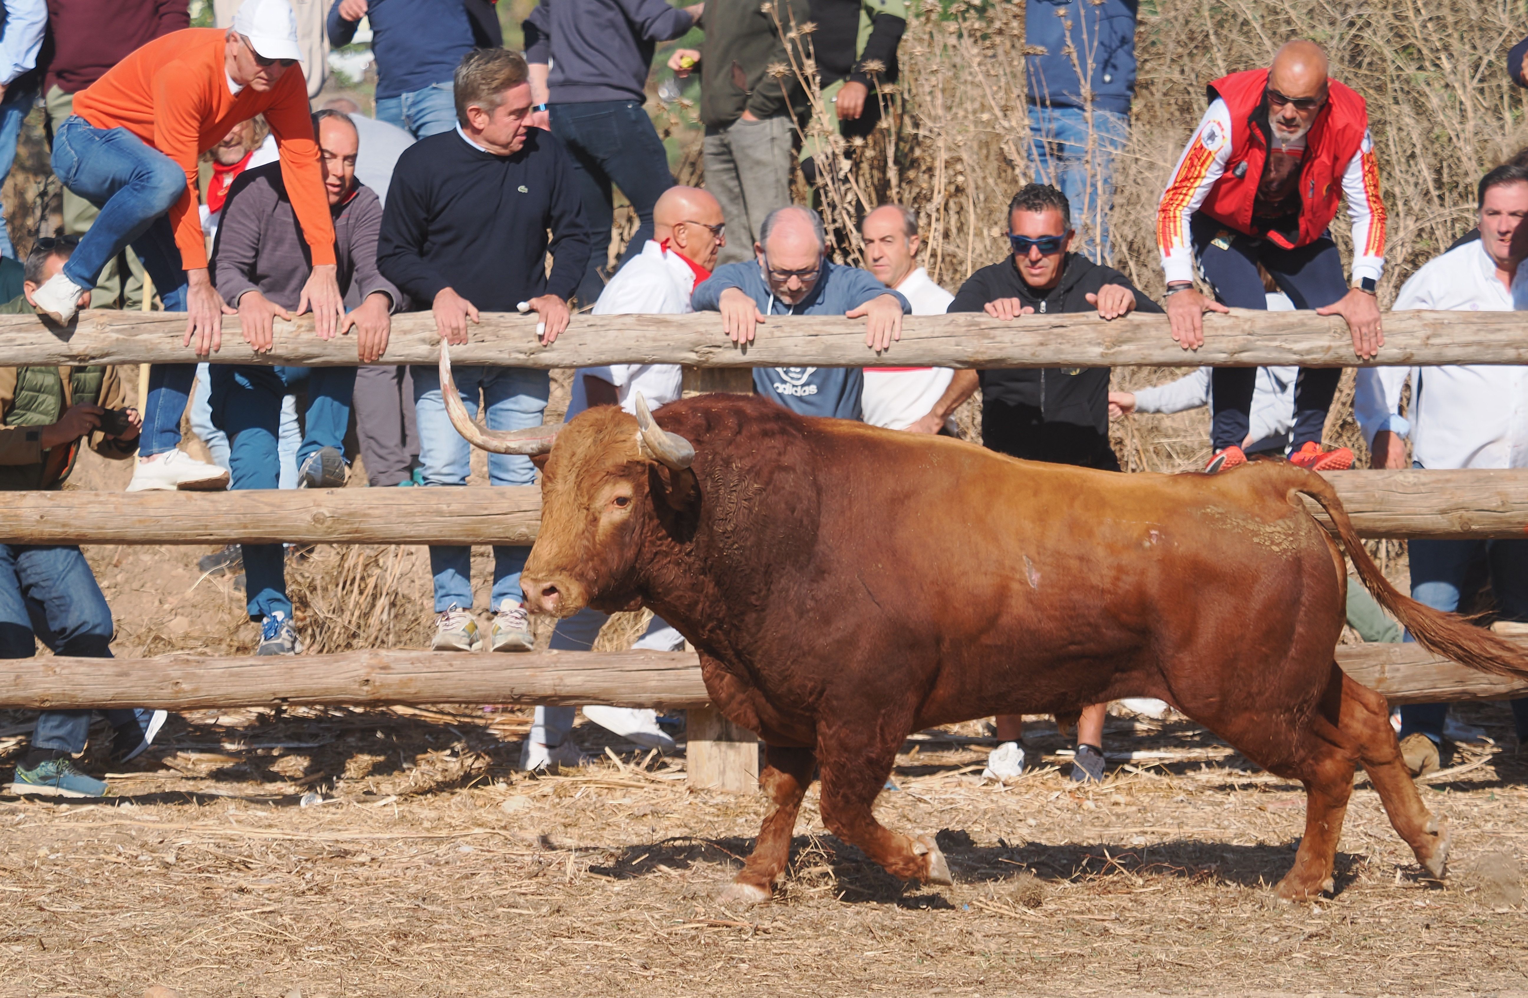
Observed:
[[[717,267],[711,280],[695,289],[691,304],[695,312],[718,312],[721,292],[736,287],[764,315],[843,315],[877,295],[894,295],[902,313],[912,312],[908,300],[876,280],[869,271],[822,261],[817,284],[795,306],[787,306],[770,292],[764,269],[756,260],[740,260]],[[860,417],[860,390],[865,373],[857,367],[755,367],[753,391],[775,399],[802,416]]]

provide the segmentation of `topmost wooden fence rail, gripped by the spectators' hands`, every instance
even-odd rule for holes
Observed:
[[[601,364],[686,364],[691,367],[1198,367],[1303,364],[1349,367],[1352,341],[1340,318],[1314,312],[1233,310],[1206,316],[1206,342],[1178,347],[1161,315],[1105,322],[1096,315],[1031,315],[1018,321],[986,315],[909,316],[902,341],[876,356],[865,348],[863,319],[770,318],[746,350],[721,333],[715,313],[579,315],[550,347],[535,336],[533,315],[484,313],[471,342],[452,348],[458,365],[591,367]],[[312,318],[277,321],[275,347],[255,355],[223,326],[219,364],[345,365],[356,362],[353,336],[321,341]],[[90,309],[66,329],[35,316],[0,316],[0,364],[183,364],[197,358],[182,345],[185,319],[165,312]],[[1528,316],[1516,312],[1389,312],[1386,345],[1375,365],[1528,364]],[[439,338],[428,312],[397,315],[379,364],[434,364]]]

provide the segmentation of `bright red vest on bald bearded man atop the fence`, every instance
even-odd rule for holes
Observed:
[[[1363,147],[1363,134],[1369,128],[1363,98],[1349,87],[1332,79],[1328,84],[1326,105],[1316,116],[1305,136],[1305,162],[1300,167],[1300,231],[1291,243],[1285,235],[1262,231],[1251,217],[1251,205],[1258,197],[1262,165],[1268,157],[1268,144],[1251,118],[1267,113],[1262,107],[1264,90],[1268,86],[1267,69],[1248,69],[1242,73],[1221,76],[1209,86],[1209,98],[1221,98],[1232,113],[1232,148],[1225,160],[1225,173],[1210,188],[1199,211],[1212,219],[1248,235],[1262,235],[1270,241],[1293,249],[1314,243],[1326,232],[1337,215],[1342,199],[1342,174]],[[1241,164],[1247,168],[1236,176]]]

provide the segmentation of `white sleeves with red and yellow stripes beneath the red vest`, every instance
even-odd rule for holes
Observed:
[[[1225,162],[1232,154],[1232,112],[1225,101],[1215,98],[1193,138],[1184,147],[1178,165],[1167,180],[1157,206],[1157,249],[1161,252],[1161,269],[1167,281],[1193,280],[1193,241],[1189,238],[1189,220],[1199,209],[1210,188],[1225,174]],[[1380,205],[1380,173],[1374,162],[1374,141],[1369,130],[1363,131],[1358,154],[1343,165],[1342,196],[1348,202],[1348,219],[1352,222],[1352,280],[1372,277],[1380,280],[1384,271],[1384,212]]]

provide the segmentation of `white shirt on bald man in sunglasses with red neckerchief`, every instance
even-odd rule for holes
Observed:
[[[593,315],[686,315],[694,312],[689,295],[695,289],[695,272],[677,252],[665,251],[648,240],[642,254],[616,271],[594,303]],[[620,408],[636,414],[637,393],[656,410],[680,397],[683,371],[678,364],[610,364],[581,367],[573,373],[573,396],[565,419],[588,408],[584,376],[590,374],[616,385]]]

